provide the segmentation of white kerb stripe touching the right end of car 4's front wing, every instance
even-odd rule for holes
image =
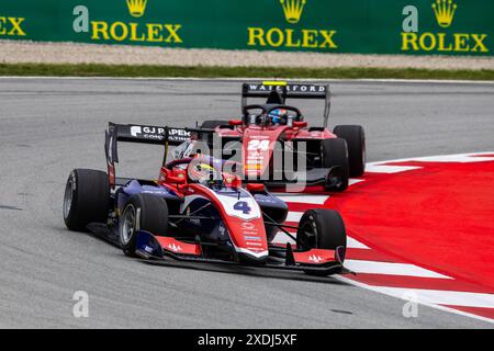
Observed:
[[[452,279],[450,276],[439,274],[418,265],[408,263],[345,260],[345,267],[357,273]]]

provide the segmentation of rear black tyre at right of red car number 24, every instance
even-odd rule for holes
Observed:
[[[350,177],[360,177],[366,170],[366,133],[360,125],[337,125],[333,131],[348,146]]]

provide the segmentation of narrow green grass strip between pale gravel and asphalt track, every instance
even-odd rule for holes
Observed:
[[[494,80],[494,70],[0,64],[0,76]]]

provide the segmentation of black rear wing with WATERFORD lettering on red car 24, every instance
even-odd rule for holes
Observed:
[[[330,110],[329,84],[288,83],[285,81],[263,81],[242,86],[242,110],[248,98],[267,98],[267,103],[285,104],[287,99],[324,100],[324,127],[327,127]]]

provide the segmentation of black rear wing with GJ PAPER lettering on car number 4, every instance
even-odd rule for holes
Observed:
[[[109,123],[105,131],[104,151],[106,156],[108,177],[110,186],[116,184],[115,163],[119,162],[117,141],[162,145],[165,166],[168,155],[168,146],[180,145],[190,138],[191,132],[187,128],[169,126],[149,126],[138,124]]]

